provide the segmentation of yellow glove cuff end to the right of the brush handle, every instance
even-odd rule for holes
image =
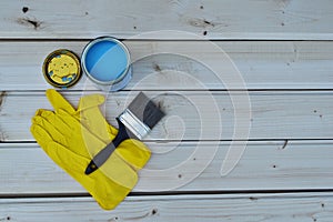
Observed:
[[[151,151],[147,145],[143,142],[133,139],[120,143],[114,152],[135,170],[142,169],[151,157]]]

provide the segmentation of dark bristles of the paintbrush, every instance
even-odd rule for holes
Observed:
[[[140,92],[128,109],[150,129],[165,115],[143,92]]]

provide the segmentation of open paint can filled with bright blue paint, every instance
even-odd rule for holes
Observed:
[[[82,52],[81,67],[102,90],[118,91],[132,78],[129,50],[112,37],[101,37],[89,42]]]

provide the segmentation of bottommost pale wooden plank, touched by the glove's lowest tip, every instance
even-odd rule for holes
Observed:
[[[281,193],[244,195],[129,196],[113,211],[90,198],[3,199],[3,221],[232,221],[331,222],[333,195]]]

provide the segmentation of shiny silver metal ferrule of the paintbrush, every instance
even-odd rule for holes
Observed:
[[[139,140],[142,140],[151,129],[139,120],[131,110],[125,109],[118,119],[124,124],[124,127],[130,130]]]

